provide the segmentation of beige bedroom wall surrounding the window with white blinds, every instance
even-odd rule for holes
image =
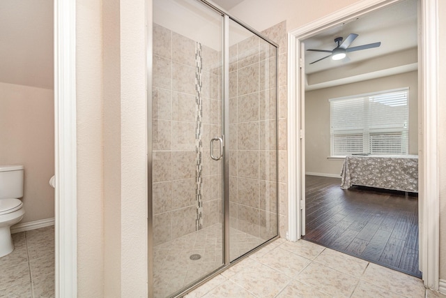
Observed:
[[[316,174],[341,172],[343,160],[330,156],[330,98],[409,87],[409,154],[418,154],[417,71],[345,84],[305,93],[305,170]]]

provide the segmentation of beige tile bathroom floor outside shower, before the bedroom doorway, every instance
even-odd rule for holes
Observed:
[[[309,241],[277,239],[185,298],[446,297],[421,279]]]

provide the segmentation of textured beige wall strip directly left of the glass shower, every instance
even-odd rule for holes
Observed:
[[[146,1],[121,1],[121,296],[147,297]],[[108,245],[107,243],[105,244]]]

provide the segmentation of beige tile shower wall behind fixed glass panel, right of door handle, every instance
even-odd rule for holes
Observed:
[[[275,40],[280,37],[283,43],[284,24],[268,29],[266,33]],[[275,47],[252,36],[231,46],[229,56],[231,227],[269,239],[277,230]],[[280,73],[277,80],[279,86],[286,84]],[[286,86],[284,93],[286,95]],[[285,150],[285,119],[280,119],[277,124],[279,128],[282,124],[279,149]],[[285,154],[279,151],[279,163],[284,156],[286,151]],[[286,161],[282,161],[283,165]],[[279,172],[279,182],[283,182],[279,185],[284,184],[284,178]],[[286,222],[282,217],[282,223]]]

